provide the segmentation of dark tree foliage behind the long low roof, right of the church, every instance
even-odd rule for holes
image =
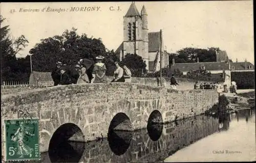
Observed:
[[[175,58],[175,63],[192,63],[197,62],[199,58],[200,62],[216,62],[216,52],[220,51],[219,48],[208,48],[208,49],[198,49],[198,48],[184,48],[177,53],[169,54],[169,63],[173,63],[173,58]]]

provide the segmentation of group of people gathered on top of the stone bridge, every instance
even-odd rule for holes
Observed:
[[[96,57],[96,63],[89,59],[80,59],[76,65],[62,64],[60,61],[56,63],[56,67],[52,71],[52,79],[54,86],[68,85],[78,83],[106,83],[106,66],[102,63],[103,56]],[[132,73],[130,69],[119,62],[115,62],[116,70],[111,82],[127,82],[131,81]]]

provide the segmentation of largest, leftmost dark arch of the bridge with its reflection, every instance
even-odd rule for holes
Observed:
[[[65,123],[59,126],[49,141],[48,152],[51,161],[72,159],[69,162],[78,162],[82,157],[85,144],[80,143],[79,148],[76,149],[74,147],[77,146],[73,144],[77,142],[72,142],[73,140],[84,142],[82,130],[74,123]]]

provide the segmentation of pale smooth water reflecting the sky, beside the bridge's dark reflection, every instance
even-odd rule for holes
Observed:
[[[220,122],[219,132],[184,147],[164,162],[255,161],[255,110],[238,110]]]

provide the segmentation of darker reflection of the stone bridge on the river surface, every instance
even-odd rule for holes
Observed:
[[[217,118],[200,115],[169,124],[148,126],[135,132],[112,131],[108,138],[103,138],[102,141],[78,143],[79,145],[69,143],[69,146],[62,144],[60,149],[55,149],[57,151],[54,154],[50,154],[49,151],[50,160],[54,161],[54,157],[62,154],[65,155],[62,162],[78,162],[78,157],[82,153],[79,162],[162,161],[203,137],[219,130],[226,132],[232,119],[239,116],[240,119],[248,117],[250,120],[252,115],[254,111],[251,110],[239,112],[237,115],[225,114]],[[222,127],[219,127],[220,124]]]

